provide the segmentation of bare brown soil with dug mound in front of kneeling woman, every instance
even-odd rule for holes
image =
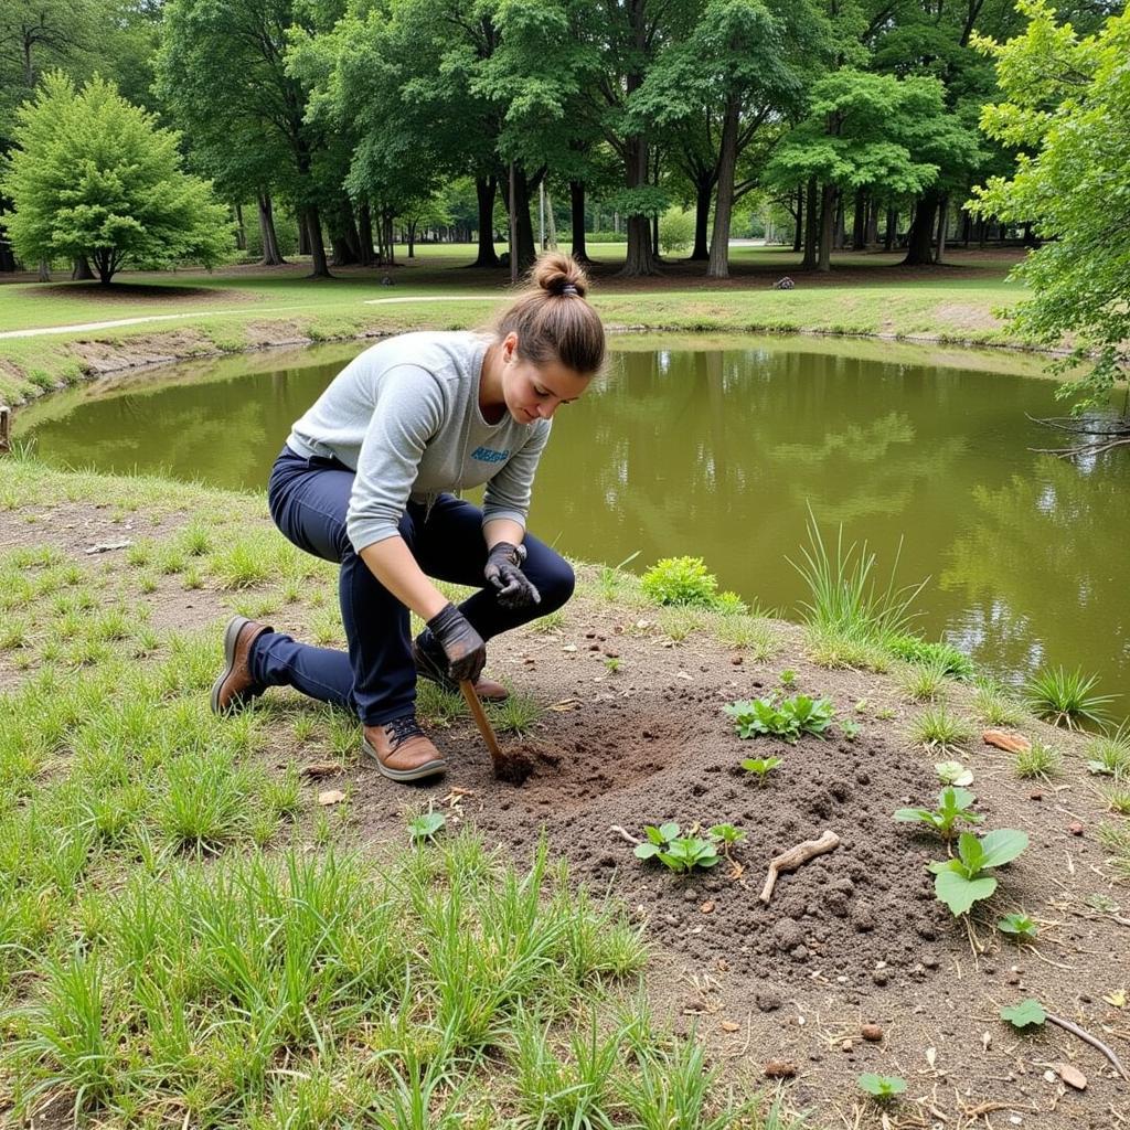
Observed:
[[[78,549],[102,540],[95,513],[73,507],[68,522],[67,507],[55,507],[37,523],[35,541]],[[24,518],[0,513],[0,541],[26,544]],[[125,568],[122,554],[105,556],[107,567]],[[182,626],[203,612],[219,640],[219,605],[229,598],[169,586],[149,600],[163,615],[183,606]],[[290,607],[272,620],[301,638],[307,615]],[[1130,1084],[1097,1052],[1057,1028],[1017,1035],[998,1017],[1002,1005],[1036,997],[1130,1060],[1130,1007],[1118,1003],[1130,988],[1130,888],[1115,881],[1095,838],[1099,822],[1115,817],[1102,811],[1079,742],[1031,728],[1066,755],[1062,777],[1050,784],[1020,782],[1009,755],[970,745],[984,827],[1023,828],[1032,843],[999,872],[990,903],[968,923],[954,920],[924,870],[945,858],[945,846],[892,819],[896,808],[936,798],[932,765],[944,759],[907,737],[919,707],[894,681],[815,667],[792,625],[779,625],[781,653],[755,663],[701,634],[673,644],[658,619],[654,610],[579,599],[554,633],[494,641],[489,672],[546,707],[532,733],[499,733],[532,773],[520,785],[496,780],[473,723],[460,721],[432,732],[450,760],[441,780],[398,785],[359,760],[345,770],[337,783],[353,786],[355,834],[374,849],[403,843],[406,814],[428,802],[522,859],[545,829],[579,880],[623,899],[641,923],[659,1015],[684,1031],[694,1026],[727,1072],[755,1080],[767,1070],[794,1072],[784,1084],[788,1102],[812,1110],[815,1128],[884,1124],[859,1097],[863,1071],[907,1080],[888,1116],[893,1127],[1130,1125]],[[603,662],[610,654],[621,661],[617,673]],[[783,668],[797,671],[797,689],[829,695],[840,718],[861,724],[860,736],[849,741],[837,729],[796,745],[740,740],[722,705],[780,689]],[[955,707],[970,698],[958,689]],[[271,748],[280,765],[322,753],[313,744],[296,748],[284,728]],[[739,767],[744,757],[771,755],[783,764],[763,785]],[[324,785],[308,788],[313,800]],[[731,860],[679,878],[633,855],[643,825],[663,820],[684,829],[727,822],[748,838]],[[1081,828],[1072,829],[1076,822]],[[840,846],[782,875],[763,905],[768,861],[825,829]],[[1105,910],[1088,904],[1096,895],[1111,901]],[[1035,947],[1017,947],[993,929],[1014,910],[1037,920]],[[863,1036],[869,1024],[878,1038]],[[1079,1068],[1086,1090],[1066,1088],[1059,1063]]]

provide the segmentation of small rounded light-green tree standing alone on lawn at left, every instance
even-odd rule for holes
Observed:
[[[0,190],[26,260],[85,255],[105,285],[125,262],[211,266],[232,246],[211,186],[180,167],[179,136],[97,76],[81,90],[46,76],[17,111],[14,139]]]

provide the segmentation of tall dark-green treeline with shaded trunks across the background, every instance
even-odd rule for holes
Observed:
[[[513,211],[520,266],[542,216],[581,259],[586,229],[623,233],[629,275],[686,243],[725,277],[765,220],[808,267],[877,244],[922,264],[999,231],[962,210],[1012,172],[979,130],[1000,92],[975,36],[1026,23],[1012,0],[6,0],[0,148],[49,72],[101,75],[180,131],[264,263],[473,238],[496,266]]]

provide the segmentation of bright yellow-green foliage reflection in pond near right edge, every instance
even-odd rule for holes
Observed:
[[[1107,689],[1124,683],[1130,654],[1114,655],[1110,643],[1130,635],[1124,496],[1125,473],[1113,461],[1083,475],[1037,459],[997,489],[976,487],[941,576],[968,608],[968,642],[1017,670],[1080,664],[1105,668]],[[1059,641],[1054,654],[1045,638]]]

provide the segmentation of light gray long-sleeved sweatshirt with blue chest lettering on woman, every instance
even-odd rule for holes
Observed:
[[[409,499],[487,484],[483,521],[525,525],[549,420],[488,424],[479,409],[487,340],[405,333],[355,357],[295,421],[287,446],[357,472],[346,519],[354,548],[395,537]]]

